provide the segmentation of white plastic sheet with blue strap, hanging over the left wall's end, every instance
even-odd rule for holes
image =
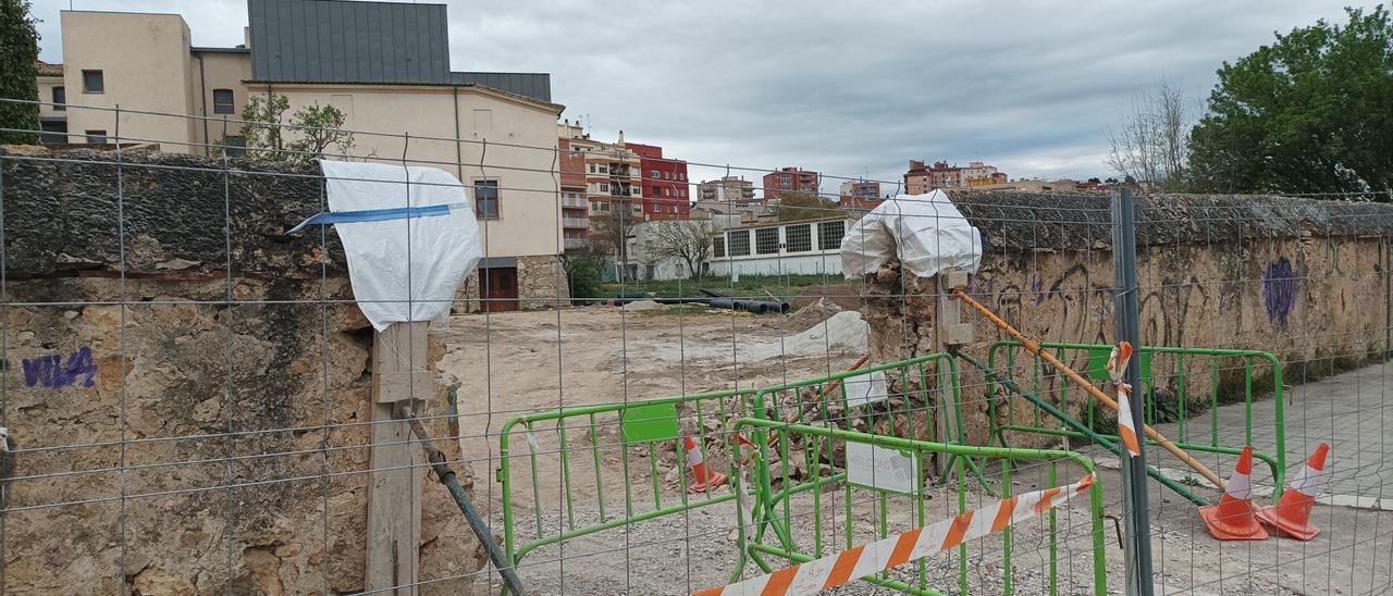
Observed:
[[[373,327],[449,315],[456,290],[483,256],[460,180],[435,167],[319,164],[330,212],[451,205],[443,216],[334,224],[354,298]]]

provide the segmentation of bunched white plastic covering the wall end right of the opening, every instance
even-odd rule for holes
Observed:
[[[982,234],[968,223],[943,191],[898,195],[861,217],[841,237],[841,273],[858,279],[882,263],[900,259],[919,277],[944,269],[976,273],[982,263]]]

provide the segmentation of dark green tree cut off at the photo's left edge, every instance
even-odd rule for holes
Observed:
[[[0,0],[0,99],[39,100],[39,32],[29,0]],[[39,104],[0,100],[0,143],[39,142]]]

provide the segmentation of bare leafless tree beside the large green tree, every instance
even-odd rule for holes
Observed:
[[[1107,166],[1123,178],[1180,189],[1194,124],[1187,104],[1184,91],[1166,79],[1152,92],[1133,97],[1131,113],[1117,130],[1107,131],[1112,143]]]

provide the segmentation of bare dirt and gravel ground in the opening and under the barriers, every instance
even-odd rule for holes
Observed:
[[[826,327],[826,326],[823,326]],[[475,493],[492,526],[501,538],[503,499],[495,472],[499,468],[499,433],[508,418],[588,404],[639,401],[698,391],[768,386],[837,372],[861,354],[854,345],[827,343],[827,350],[808,354],[772,351],[790,345],[794,331],[786,316],[683,313],[670,309],[627,312],[591,306],[564,311],[458,316],[442,331],[447,355],[442,370],[460,379],[461,440],[475,478]],[[804,337],[802,340],[807,340]],[[807,348],[808,341],[802,341]],[[517,544],[539,533],[554,535],[613,521],[630,508],[652,511],[696,500],[683,496],[681,460],[671,446],[653,450],[624,448],[618,432],[596,423],[591,436],[573,429],[570,437],[556,429],[511,434],[514,533]],[[579,436],[577,436],[579,434]],[[522,437],[527,440],[524,441]],[[591,447],[593,460],[591,460]],[[706,446],[710,450],[710,444]],[[560,454],[571,454],[566,460]],[[585,455],[577,458],[575,455]],[[724,469],[719,454],[708,461]],[[716,457],[712,457],[716,455]],[[593,461],[593,465],[592,465]],[[563,465],[568,464],[568,465]],[[1061,483],[1071,482],[1061,471]],[[1000,472],[989,469],[996,482]],[[1067,479],[1066,479],[1067,478]],[[624,480],[628,480],[627,483]],[[1102,469],[1107,592],[1123,590],[1123,551],[1119,544],[1121,496],[1116,471]],[[1011,475],[1013,492],[1050,486],[1042,469]],[[625,492],[625,486],[630,487]],[[1216,499],[1213,490],[1195,487]],[[719,490],[720,494],[726,489]],[[958,496],[968,507],[990,503],[981,486],[931,489],[925,493],[925,521],[956,512]],[[914,522],[905,497],[882,501],[871,492],[829,485],[790,500],[794,542],[812,553],[818,538],[823,554],[844,546],[848,517],[853,544],[878,538],[883,519],[887,531],[908,529]],[[820,515],[816,511],[822,511]],[[1013,535],[1011,581],[1017,593],[1048,593],[1050,568],[1057,593],[1092,593],[1091,526],[1087,501],[1075,500],[1059,512],[1060,539],[1049,547],[1045,518],[1020,525]],[[1316,504],[1312,519],[1323,529],[1308,543],[1286,539],[1219,543],[1209,538],[1192,505],[1152,487],[1151,517],[1156,593],[1383,593],[1393,565],[1393,512]],[[733,501],[710,504],[652,521],[617,525],[598,533],[540,546],[518,570],[529,593],[669,595],[726,583],[738,560]],[[820,536],[819,536],[820,531]],[[766,539],[765,543],[772,543]],[[974,543],[968,551],[968,592],[1002,593],[1006,578],[1000,538]],[[777,558],[775,567],[786,564]],[[914,568],[897,571],[904,579],[922,581],[946,593],[958,593],[957,553],[929,557],[922,575]],[[912,565],[907,565],[912,567]],[[758,567],[745,567],[744,577]],[[481,593],[499,590],[497,574],[479,574]],[[892,593],[865,582],[836,590],[844,595]]]

